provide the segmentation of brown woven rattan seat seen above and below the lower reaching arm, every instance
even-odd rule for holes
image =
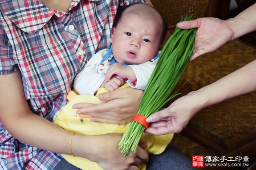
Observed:
[[[198,90],[256,59],[256,49],[233,40],[189,63],[177,87],[190,79],[182,94]],[[186,127],[226,150],[256,139],[256,92],[229,99],[200,111]]]

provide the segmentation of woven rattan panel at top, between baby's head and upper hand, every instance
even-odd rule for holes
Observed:
[[[194,19],[203,17],[209,4],[209,0],[151,0],[151,2],[167,21],[169,29],[176,27],[181,16],[193,14]]]

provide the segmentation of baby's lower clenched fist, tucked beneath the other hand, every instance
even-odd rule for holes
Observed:
[[[105,87],[108,91],[114,91],[118,89],[119,86],[122,86],[124,84],[124,79],[114,75],[111,76],[111,79],[106,82],[104,81],[102,83],[102,87]]]

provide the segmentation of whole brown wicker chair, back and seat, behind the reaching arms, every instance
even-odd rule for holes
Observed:
[[[217,13],[217,6],[221,1],[218,0],[151,0],[151,2],[167,20],[170,32],[179,22],[180,16],[193,14],[194,18],[199,18],[220,15]],[[186,95],[255,59],[256,47],[241,40],[233,40],[215,52],[190,62],[177,87],[181,87],[189,79],[180,90]],[[173,141],[190,159],[192,155],[219,156],[219,158],[248,156],[251,169],[224,167],[223,170],[256,169],[256,92],[203,109],[191,119],[180,134],[175,134]],[[211,169],[215,170],[211,167],[199,168],[199,170]],[[218,167],[218,170],[221,170],[221,167]]]

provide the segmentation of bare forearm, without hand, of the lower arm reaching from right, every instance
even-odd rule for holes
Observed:
[[[256,91],[256,60],[195,93],[208,107],[252,91]]]

